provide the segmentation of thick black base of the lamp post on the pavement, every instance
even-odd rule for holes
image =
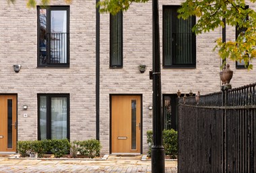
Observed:
[[[152,173],[164,173],[164,147],[163,146],[152,146],[151,149],[151,165]]]

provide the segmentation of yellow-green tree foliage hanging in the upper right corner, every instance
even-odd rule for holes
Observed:
[[[250,0],[255,3],[255,0]],[[191,15],[199,17],[199,20],[193,27],[195,34],[202,32],[210,32],[218,27],[224,27],[223,18],[226,23],[241,32],[235,41],[222,42],[222,39],[216,40],[216,48],[219,48],[220,57],[230,58],[231,60],[244,60],[247,66],[248,62],[256,57],[256,12],[246,8],[245,0],[187,0],[182,3],[182,8],[179,9],[179,17],[187,19]],[[214,48],[214,50],[216,49]],[[248,68],[253,68],[250,64]]]

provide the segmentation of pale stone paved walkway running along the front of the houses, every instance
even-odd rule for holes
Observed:
[[[166,172],[177,173],[177,162],[166,160]],[[107,160],[21,160],[0,157],[0,172],[151,172],[141,156],[108,156]]]

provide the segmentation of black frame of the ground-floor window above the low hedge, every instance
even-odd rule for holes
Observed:
[[[51,98],[65,97],[67,98],[67,139],[70,140],[70,96],[69,94],[38,94],[38,140],[41,140],[40,135],[40,97],[46,97],[46,139],[51,139]],[[48,123],[49,122],[49,123]]]

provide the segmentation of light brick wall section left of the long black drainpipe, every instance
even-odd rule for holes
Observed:
[[[76,0],[70,5],[70,68],[37,68],[36,9],[28,9],[26,1],[1,5],[0,93],[18,94],[18,140],[37,139],[38,93],[69,93],[71,140],[96,136],[94,11],[95,1]],[[22,65],[19,73],[13,64]]]

